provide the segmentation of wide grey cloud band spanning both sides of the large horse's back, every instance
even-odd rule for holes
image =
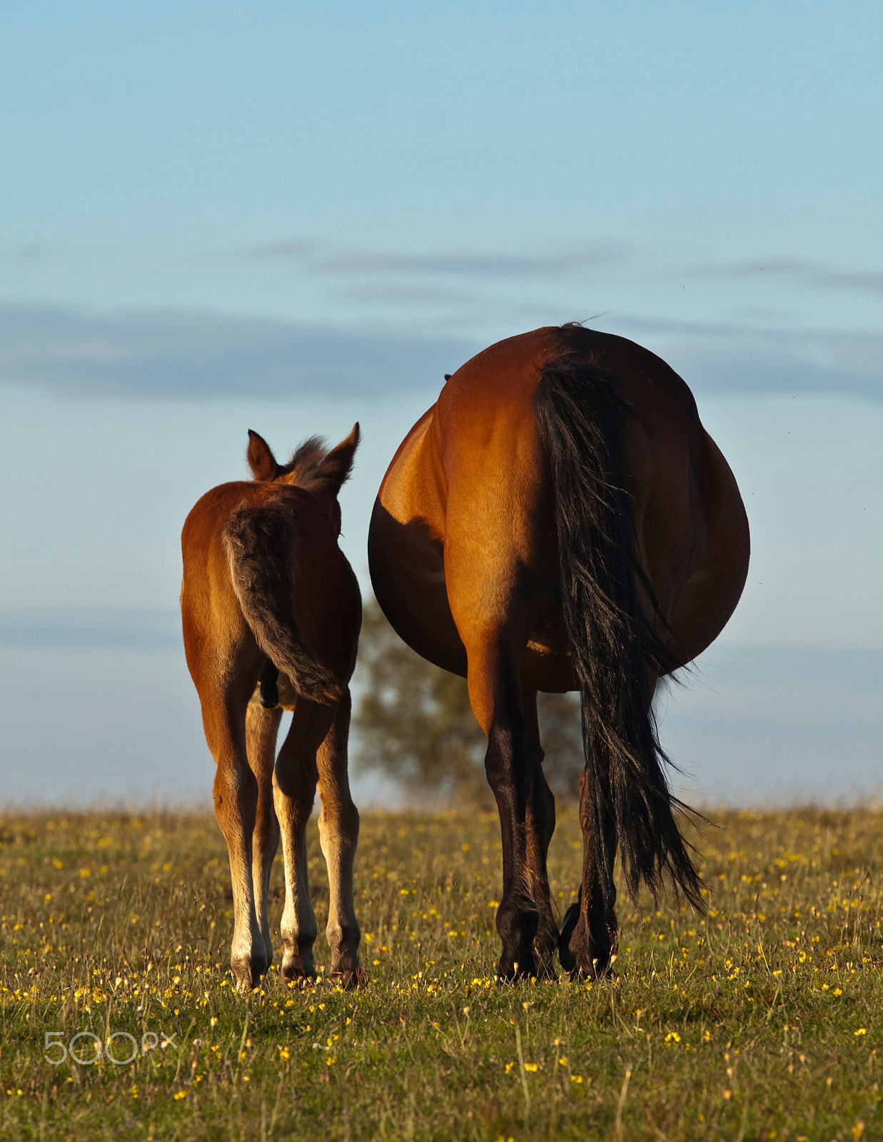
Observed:
[[[536,317],[509,314],[512,332]],[[563,320],[568,314],[562,314]],[[504,314],[493,324],[499,328]],[[883,335],[667,322],[593,324],[647,345],[697,392],[837,393],[883,400]],[[0,305],[0,385],[79,400],[370,400],[436,387],[488,344],[483,330],[415,333],[186,309]],[[474,327],[473,327],[474,328]]]

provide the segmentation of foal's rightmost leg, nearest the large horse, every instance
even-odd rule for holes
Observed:
[[[346,690],[334,724],[319,748],[319,841],[328,866],[328,926],[331,976],[344,987],[359,982],[361,932],[353,901],[353,861],[359,841],[359,811],[350,796],[346,746],[350,734],[351,698]]]

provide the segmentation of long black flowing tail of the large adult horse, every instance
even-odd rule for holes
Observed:
[[[644,662],[660,673],[673,662],[639,595],[640,584],[658,611],[635,554],[623,401],[601,369],[562,357],[543,368],[535,408],[555,488],[561,601],[583,699],[584,780],[604,902],[615,899],[618,841],[633,896],[643,882],[658,899],[668,875],[704,911],[703,884],[674,819],[687,806],[668,789],[650,708]]]

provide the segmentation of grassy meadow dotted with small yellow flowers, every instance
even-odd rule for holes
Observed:
[[[883,815],[715,823],[698,841],[707,919],[624,902],[616,979],[509,987],[492,980],[496,819],[364,815],[367,984],[286,988],[273,972],[243,998],[212,818],[7,814],[0,1136],[883,1137]],[[562,914],[578,862],[561,814]],[[276,932],[280,912],[276,867]],[[322,936],[318,952],[327,964]],[[47,1061],[80,1032],[85,1060],[111,1036],[135,1057]]]

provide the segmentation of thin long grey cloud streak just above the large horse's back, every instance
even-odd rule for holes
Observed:
[[[621,262],[617,246],[604,244],[552,255],[511,254],[391,254],[351,250],[315,263],[329,274],[427,274],[466,278],[537,278]]]

